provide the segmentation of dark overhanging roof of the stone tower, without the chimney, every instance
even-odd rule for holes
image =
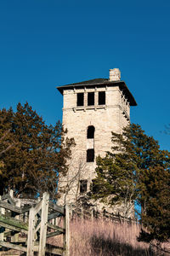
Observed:
[[[69,88],[82,88],[84,86],[91,88],[94,86],[97,87],[102,87],[102,86],[119,86],[120,90],[122,90],[122,92],[125,94],[125,96],[127,96],[128,101],[130,102],[131,106],[136,106],[137,103],[132,95],[132,93],[130,92],[130,90],[128,90],[127,88],[127,84],[125,84],[124,81],[110,81],[109,79],[91,79],[88,81],[82,81],[79,83],[74,83],[74,84],[65,84],[63,86],[59,86],[57,87],[57,89],[59,90],[59,92],[61,94],[63,94],[63,90],[65,89],[69,89]]]

